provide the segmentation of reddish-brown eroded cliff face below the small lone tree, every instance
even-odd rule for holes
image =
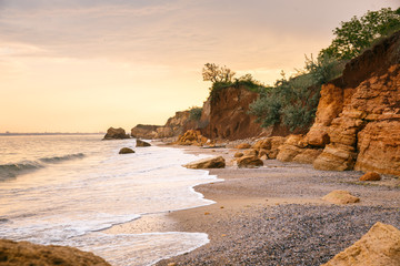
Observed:
[[[201,133],[209,139],[239,140],[260,135],[263,131],[256,116],[249,115],[249,105],[259,96],[244,88],[227,88],[209,99],[203,108]],[[204,105],[206,105],[204,104]]]

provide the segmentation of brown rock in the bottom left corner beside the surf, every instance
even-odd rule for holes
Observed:
[[[111,266],[92,253],[68,246],[43,246],[0,239],[0,265]]]

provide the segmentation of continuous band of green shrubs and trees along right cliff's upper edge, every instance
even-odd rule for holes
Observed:
[[[358,19],[341,22],[333,33],[332,44],[322,49],[314,60],[306,57],[306,66],[293,76],[284,74],[273,86],[261,91],[260,98],[250,105],[250,113],[261,126],[282,123],[291,131],[307,130],[317,112],[321,85],[339,76],[349,59],[360,54],[377,40],[400,29],[400,8],[368,11]]]

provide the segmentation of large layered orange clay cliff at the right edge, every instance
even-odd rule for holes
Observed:
[[[319,170],[400,175],[400,32],[351,60],[342,76],[322,86],[314,124],[280,153],[293,150],[297,156],[310,149],[323,149],[313,161]]]

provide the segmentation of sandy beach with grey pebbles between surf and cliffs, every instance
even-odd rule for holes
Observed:
[[[226,157],[226,168],[210,170],[223,182],[194,187],[216,204],[146,216],[107,231],[209,235],[209,244],[157,265],[321,265],[376,222],[400,228],[400,181],[394,176],[359,182],[361,172],[316,171],[276,160],[259,168],[238,168],[232,163],[236,150],[183,149]],[[321,200],[333,190],[349,191],[360,202],[334,205]]]

